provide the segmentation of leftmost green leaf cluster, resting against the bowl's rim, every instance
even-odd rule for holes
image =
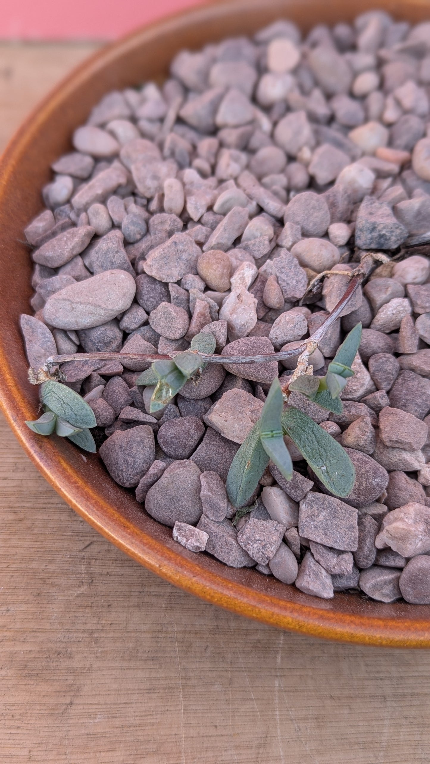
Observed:
[[[25,424],[37,435],[52,435],[69,438],[84,451],[96,452],[96,443],[90,427],[96,426],[92,408],[70,387],[49,380],[41,386],[41,401],[44,414],[35,421]]]

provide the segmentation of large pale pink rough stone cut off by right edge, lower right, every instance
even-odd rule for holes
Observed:
[[[412,501],[387,513],[375,545],[377,549],[389,546],[403,557],[430,551],[430,509]]]

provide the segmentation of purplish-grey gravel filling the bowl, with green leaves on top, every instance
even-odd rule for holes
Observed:
[[[72,142],[25,229],[32,429],[191,552],[430,604],[430,22],[183,50]]]

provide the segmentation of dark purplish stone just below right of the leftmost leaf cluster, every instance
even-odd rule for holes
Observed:
[[[147,425],[117,430],[100,446],[99,455],[116,483],[134,487],[155,461],[154,433]]]

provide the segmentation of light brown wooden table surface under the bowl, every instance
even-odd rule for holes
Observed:
[[[0,150],[94,47],[0,44]],[[0,481],[1,764],[428,764],[430,651],[184,594],[67,507],[3,419]]]

